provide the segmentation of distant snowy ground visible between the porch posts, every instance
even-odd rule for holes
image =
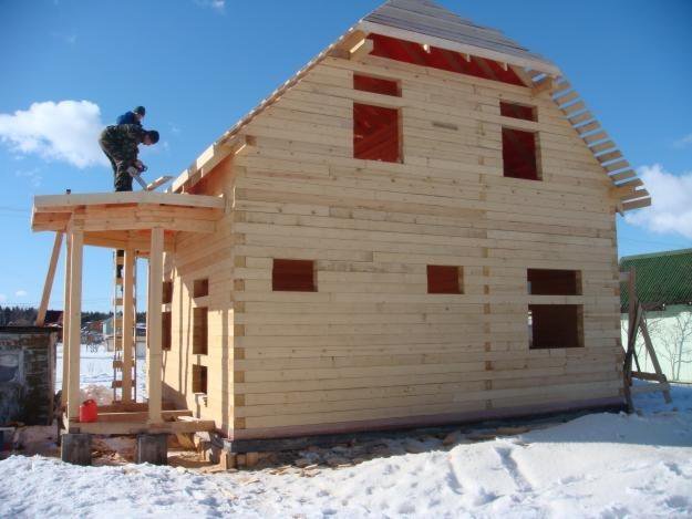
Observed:
[[[113,382],[113,352],[109,352],[105,344],[82,344],[80,352],[80,387],[85,396],[106,396],[111,394]],[[146,396],[145,360],[137,359],[137,401]],[[107,388],[103,391],[101,388]],[[55,391],[62,388],[62,343],[56,345]],[[99,398],[94,398],[99,402]],[[106,403],[106,402],[99,402]]]

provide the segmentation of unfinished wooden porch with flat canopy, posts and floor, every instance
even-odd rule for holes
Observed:
[[[34,197],[31,229],[54,231],[55,245],[49,266],[39,315],[45,312],[63,236],[66,237],[65,308],[63,323],[63,405],[68,432],[144,433],[189,432],[214,428],[213,422],[168,422],[189,412],[165,412],[162,403],[162,292],[164,251],[172,251],[176,232],[214,232],[223,217],[223,197],[156,191],[68,194]],[[82,261],[85,245],[120,249],[122,262],[123,381],[122,402],[109,406],[97,423],[81,424],[80,331],[82,313]],[[134,270],[137,256],[148,257],[147,385],[148,405],[132,402],[134,340]],[[42,312],[41,312],[42,311]],[[118,407],[120,405],[120,407]],[[179,430],[178,430],[179,429]]]

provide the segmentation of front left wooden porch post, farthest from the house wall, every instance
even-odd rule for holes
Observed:
[[[71,241],[68,417],[72,421],[80,416],[80,332],[82,331],[82,252],[84,232],[81,230],[71,231]]]

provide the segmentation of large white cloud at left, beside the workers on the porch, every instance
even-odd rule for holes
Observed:
[[[99,146],[101,108],[90,101],[47,101],[0,114],[0,141],[20,155],[37,154],[79,168],[109,164]]]

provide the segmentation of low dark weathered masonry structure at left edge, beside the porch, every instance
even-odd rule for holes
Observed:
[[[58,330],[0,326],[0,425],[51,422]]]

